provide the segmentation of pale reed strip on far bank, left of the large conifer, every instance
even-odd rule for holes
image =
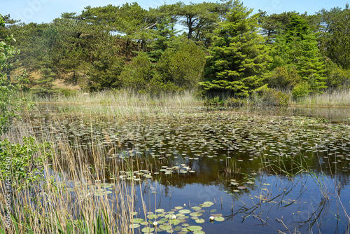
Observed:
[[[73,95],[57,95],[51,98],[37,97],[28,93],[27,99],[40,106],[47,106],[48,109],[56,106],[58,111],[66,114],[80,113],[84,116],[118,118],[124,121],[152,119],[154,116],[167,116],[202,106],[200,99],[190,92],[160,94],[153,97],[148,94],[138,94],[132,90],[92,93],[78,91]]]

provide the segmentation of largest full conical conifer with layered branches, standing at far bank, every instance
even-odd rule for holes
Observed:
[[[262,85],[262,74],[269,56],[264,39],[258,34],[258,15],[235,1],[235,7],[214,31],[214,41],[209,48],[206,78],[201,83],[207,92],[231,92],[248,96],[251,90]]]

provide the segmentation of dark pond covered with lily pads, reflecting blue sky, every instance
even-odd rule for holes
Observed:
[[[118,200],[116,181],[132,191],[130,232],[347,233],[349,112],[335,113],[201,108],[123,124],[38,113],[31,124],[70,142],[76,166],[105,186],[88,188],[97,202]]]

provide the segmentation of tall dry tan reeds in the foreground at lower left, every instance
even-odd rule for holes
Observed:
[[[12,128],[2,137],[22,144],[21,136],[34,133],[30,119],[22,121],[28,122]],[[34,186],[26,184],[21,190],[13,188],[12,223],[6,228],[3,223],[5,213],[1,212],[0,233],[134,233],[129,226],[134,216],[135,187],[141,183],[120,179],[120,171],[133,174],[134,170],[140,170],[141,159],[135,156],[118,160],[116,167],[108,169],[106,152],[98,142],[92,142],[90,158],[87,159],[80,147],[74,147],[78,139],[69,141],[64,130],[56,131],[41,128],[45,137],[36,138],[36,144],[52,142],[53,149],[50,157],[41,151],[36,154],[43,160],[45,179]],[[108,137],[106,134],[105,138]],[[114,147],[116,151],[122,150],[117,145]],[[111,178],[112,194],[105,194],[105,182]],[[2,194],[5,190],[1,183]],[[0,210],[5,210],[2,202]]]

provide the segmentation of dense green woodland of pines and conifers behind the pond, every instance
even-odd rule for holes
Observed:
[[[26,70],[25,88],[41,95],[57,92],[55,80],[90,91],[194,90],[235,98],[350,87],[348,5],[267,15],[232,0],[148,10],[132,3],[87,6],[42,24],[3,18],[0,38],[16,39],[7,60],[13,65],[3,73]]]

